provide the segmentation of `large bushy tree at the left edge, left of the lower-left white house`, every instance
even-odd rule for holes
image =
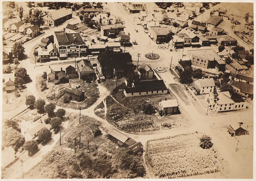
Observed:
[[[18,149],[24,144],[25,138],[20,135],[20,132],[17,130],[14,130],[12,128],[4,128],[2,132],[2,146],[3,147],[9,147],[12,146],[12,148],[15,151],[18,151]]]

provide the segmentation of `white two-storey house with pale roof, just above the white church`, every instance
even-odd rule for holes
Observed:
[[[215,83],[213,78],[204,78],[197,79],[195,84],[193,84],[193,89],[199,91],[199,94],[207,94],[213,92],[215,88]]]

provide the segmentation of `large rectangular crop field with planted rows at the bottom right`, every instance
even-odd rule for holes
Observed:
[[[221,175],[221,163],[214,146],[199,146],[201,134],[179,135],[148,142],[146,164],[155,178]]]

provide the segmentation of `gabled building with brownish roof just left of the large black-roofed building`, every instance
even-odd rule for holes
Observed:
[[[95,80],[95,72],[92,67],[92,64],[88,60],[80,60],[76,63],[77,66],[77,74],[80,80],[86,81],[94,81]]]

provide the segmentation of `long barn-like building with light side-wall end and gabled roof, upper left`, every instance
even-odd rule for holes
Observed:
[[[43,16],[44,24],[50,27],[56,27],[72,18],[72,9],[61,8],[59,10],[48,12]]]

